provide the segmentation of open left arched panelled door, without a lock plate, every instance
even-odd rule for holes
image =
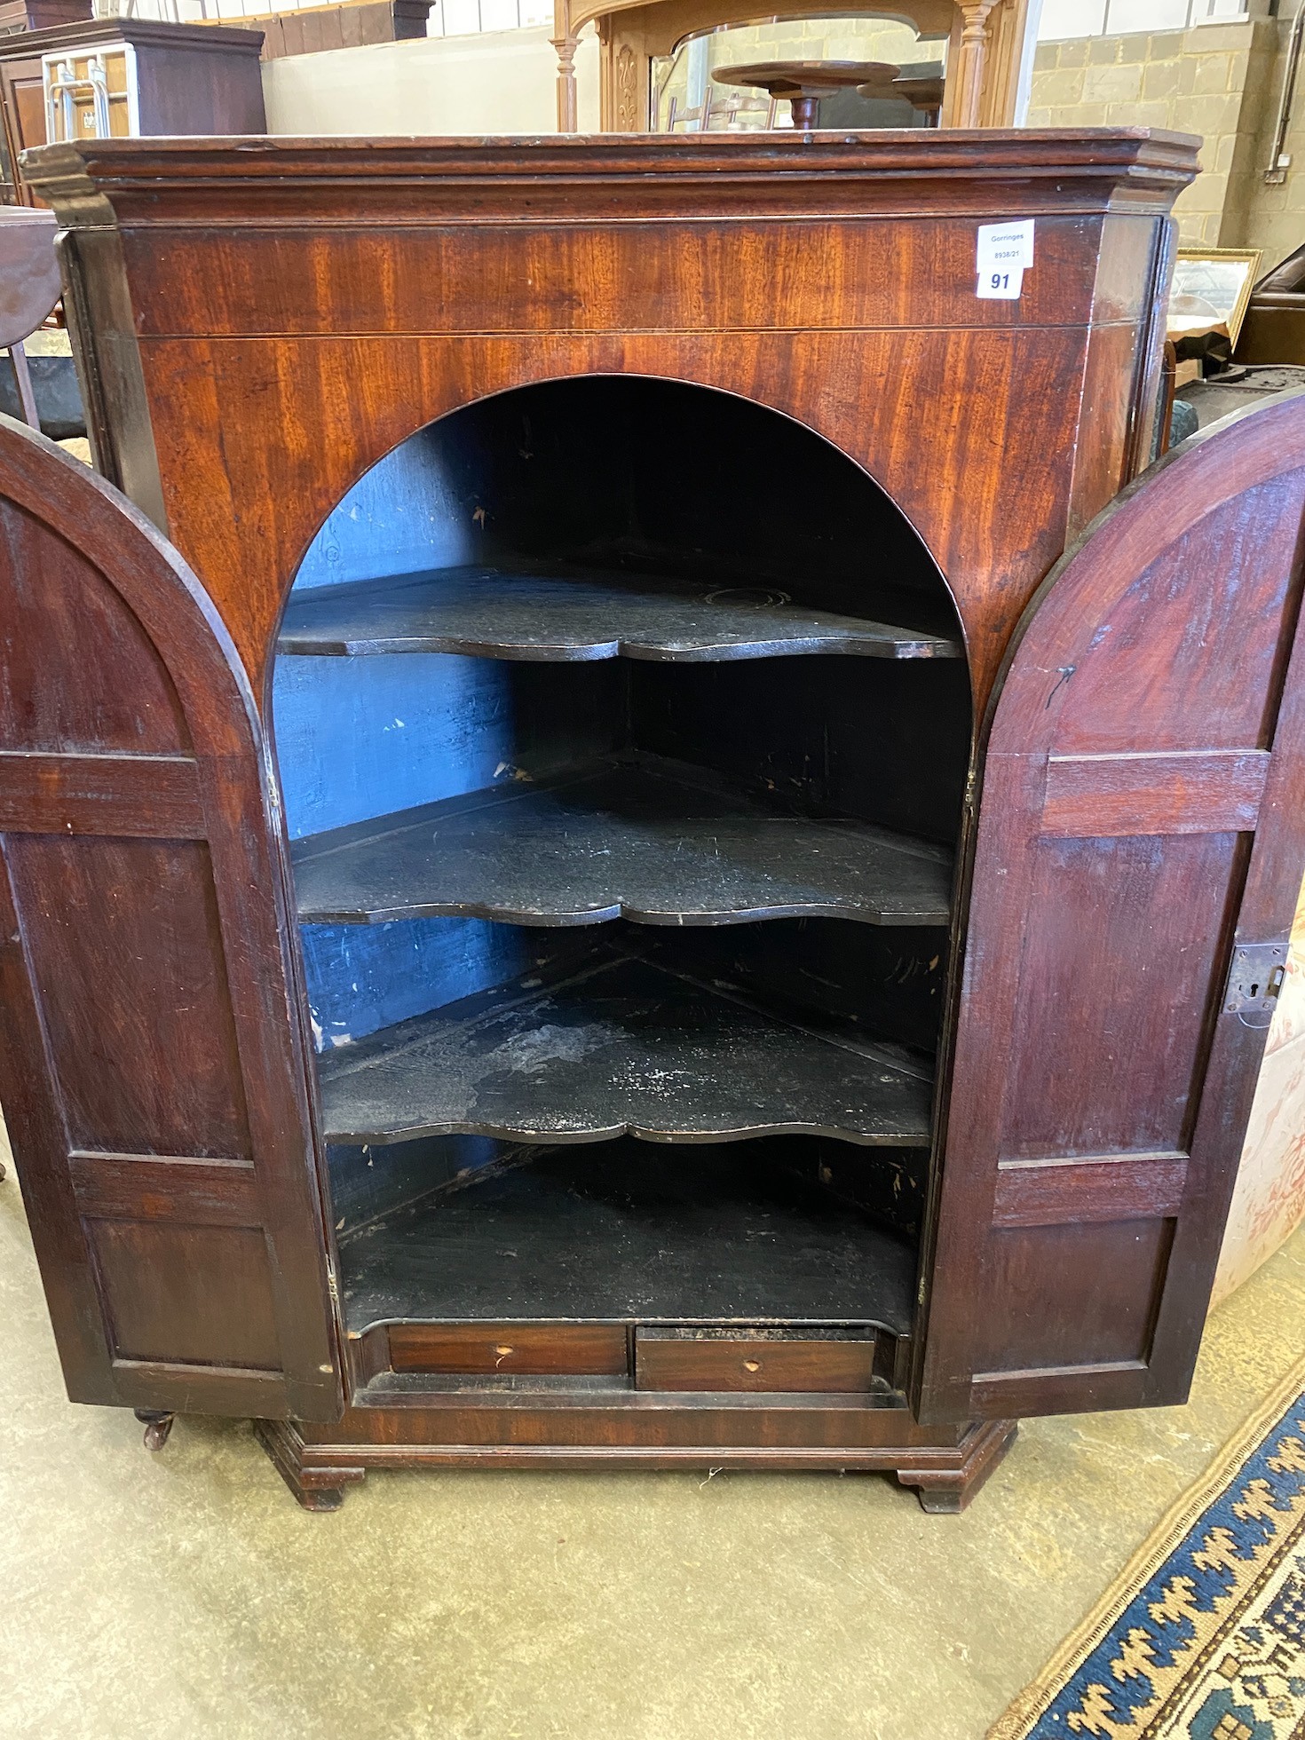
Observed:
[[[0,1105],[73,1401],[339,1416],[273,790],[181,557],[0,418]]]

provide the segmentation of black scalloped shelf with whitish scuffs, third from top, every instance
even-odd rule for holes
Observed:
[[[780,1020],[628,954],[327,1051],[318,1079],[327,1141],[929,1143],[931,1084],[905,1054]]]

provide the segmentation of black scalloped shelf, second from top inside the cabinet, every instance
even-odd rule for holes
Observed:
[[[785,816],[642,757],[313,835],[294,846],[294,886],[308,924],[947,924],[952,872],[943,847]]]

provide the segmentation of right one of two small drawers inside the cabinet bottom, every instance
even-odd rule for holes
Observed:
[[[872,1329],[635,1329],[639,1390],[813,1390],[875,1387]]]

